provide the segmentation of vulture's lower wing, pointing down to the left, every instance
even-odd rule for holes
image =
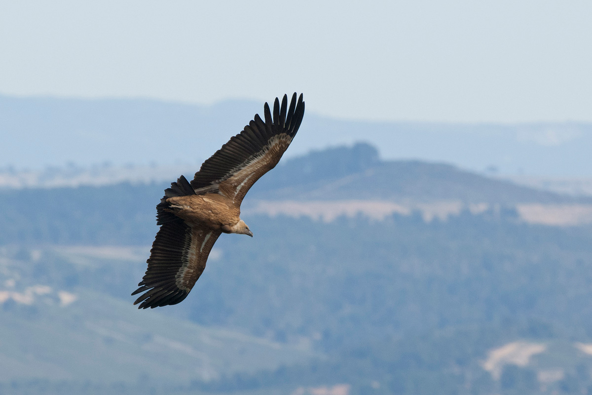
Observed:
[[[132,295],[144,292],[139,309],[177,304],[184,300],[205,268],[218,230],[190,227],[181,219],[162,224],[152,243],[148,269]]]

